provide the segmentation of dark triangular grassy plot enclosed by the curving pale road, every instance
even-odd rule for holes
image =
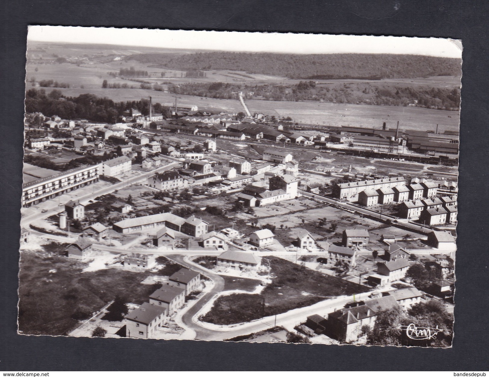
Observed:
[[[296,265],[276,257],[265,257],[273,276],[261,294],[233,294],[216,300],[201,320],[216,325],[247,322],[262,316],[310,306],[331,296],[351,295],[368,288]]]

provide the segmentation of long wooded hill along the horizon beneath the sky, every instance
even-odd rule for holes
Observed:
[[[402,54],[274,54],[197,52],[124,58],[180,71],[232,70],[292,79],[381,79],[461,76],[461,59]]]

